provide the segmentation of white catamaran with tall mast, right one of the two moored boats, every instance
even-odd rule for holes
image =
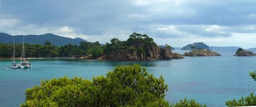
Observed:
[[[31,68],[31,64],[29,63],[29,61],[26,61],[25,59],[24,36],[19,68]]]

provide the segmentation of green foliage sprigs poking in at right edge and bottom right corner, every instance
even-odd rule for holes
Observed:
[[[254,79],[256,81],[256,70],[253,72],[249,73],[250,76],[252,77],[252,79]],[[256,95],[253,95],[253,93],[251,93],[250,96],[246,96],[246,97],[241,97],[241,99],[239,100],[230,100],[226,102],[227,106],[252,106],[252,105],[256,105]]]

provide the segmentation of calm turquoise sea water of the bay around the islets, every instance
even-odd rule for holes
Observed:
[[[207,106],[226,106],[227,100],[256,92],[256,82],[249,76],[249,71],[256,70],[256,56],[223,55],[139,62],[57,59],[30,62],[32,69],[6,70],[12,61],[0,61],[0,106],[19,106],[25,101],[26,88],[39,85],[41,80],[63,76],[92,79],[106,75],[118,64],[133,63],[146,67],[156,77],[163,75],[169,86],[165,99],[170,103],[187,97]]]

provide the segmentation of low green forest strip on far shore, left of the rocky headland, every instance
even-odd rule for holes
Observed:
[[[20,57],[22,44],[15,44],[15,57]],[[25,44],[26,57],[72,57],[92,55],[93,58],[99,57],[103,52],[103,46],[99,42],[81,42],[80,46],[65,45],[55,46],[49,41],[45,45]],[[0,57],[10,58],[13,56],[13,44],[0,44]]]

